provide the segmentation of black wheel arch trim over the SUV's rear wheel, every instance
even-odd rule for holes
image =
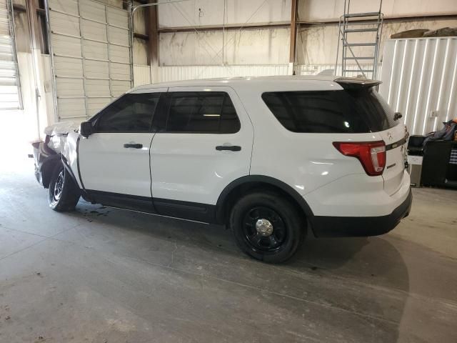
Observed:
[[[221,192],[216,203],[216,222],[224,224],[226,218],[228,218],[229,210],[236,202],[236,199],[239,199],[242,194],[253,192],[256,189],[270,189],[282,194],[296,205],[308,221],[311,221],[313,218],[313,212],[308,203],[306,203],[306,200],[285,182],[264,175],[248,175],[234,180]]]

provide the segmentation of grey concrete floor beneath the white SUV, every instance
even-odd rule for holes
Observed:
[[[290,262],[221,227],[79,202],[0,165],[0,342],[457,342],[457,192],[414,189],[390,234],[310,239]]]

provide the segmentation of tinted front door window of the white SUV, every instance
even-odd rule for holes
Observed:
[[[98,132],[149,132],[160,93],[125,94],[96,120]]]

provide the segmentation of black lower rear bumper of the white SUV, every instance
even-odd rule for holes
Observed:
[[[413,202],[411,189],[406,200],[391,214],[381,217],[323,217],[311,219],[316,237],[367,237],[386,234],[395,228],[401,219],[408,217]]]

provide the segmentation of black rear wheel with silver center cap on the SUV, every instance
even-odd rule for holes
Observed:
[[[229,227],[243,252],[267,263],[290,259],[306,235],[296,206],[273,192],[239,199],[231,209]]]

